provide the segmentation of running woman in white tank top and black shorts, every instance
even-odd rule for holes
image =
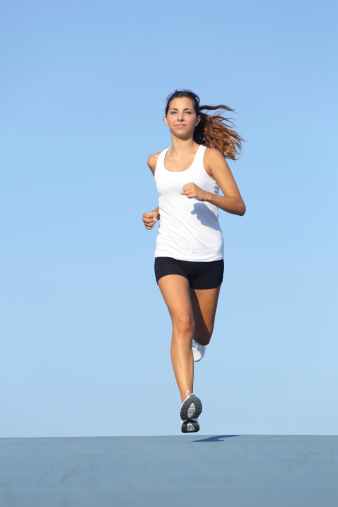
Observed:
[[[218,208],[244,215],[245,204],[225,158],[236,158],[242,138],[227,119],[201,110],[189,90],[168,97],[165,123],[172,146],[151,155],[148,165],[159,192],[159,207],[143,214],[146,229],[160,220],[155,275],[172,320],[171,360],[180,390],[181,431],[199,431],[201,400],[193,394],[194,360],[212,335],[223,280],[223,236]],[[221,189],[224,195],[218,195]]]

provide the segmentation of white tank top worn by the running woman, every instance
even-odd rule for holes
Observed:
[[[169,148],[157,159],[155,181],[159,193],[160,227],[155,257],[200,262],[223,259],[223,235],[217,206],[181,195],[186,183],[195,183],[207,192],[218,194],[218,184],[203,165],[205,149],[205,146],[199,146],[193,163],[185,171],[173,172],[164,167]]]

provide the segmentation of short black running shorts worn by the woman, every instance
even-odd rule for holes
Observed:
[[[179,261],[172,257],[155,257],[156,282],[162,276],[181,275],[192,289],[215,289],[223,281],[224,261]]]

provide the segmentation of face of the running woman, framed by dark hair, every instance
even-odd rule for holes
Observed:
[[[188,97],[178,97],[169,104],[164,121],[171,132],[183,139],[192,137],[195,127],[200,122],[200,116],[196,116],[194,103]]]

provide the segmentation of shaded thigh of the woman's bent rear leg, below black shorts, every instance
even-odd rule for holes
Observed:
[[[207,345],[210,341],[220,289],[221,286],[215,289],[190,289],[195,320],[195,340],[201,345]]]

